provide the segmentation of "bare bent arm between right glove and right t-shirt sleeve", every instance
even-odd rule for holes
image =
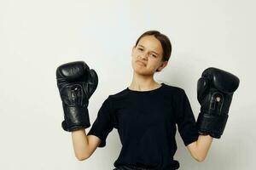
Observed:
[[[193,156],[196,161],[201,162],[207,157],[211,144],[212,137],[210,135],[199,135],[197,141],[187,145],[187,148],[190,151],[191,156]]]

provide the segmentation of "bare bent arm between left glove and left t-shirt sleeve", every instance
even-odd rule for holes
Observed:
[[[73,150],[79,161],[89,158],[101,142],[101,139],[94,135],[87,136],[84,129],[73,131],[72,139]]]

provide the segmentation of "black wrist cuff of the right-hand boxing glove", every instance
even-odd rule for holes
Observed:
[[[226,114],[219,116],[200,113],[196,122],[198,133],[202,135],[209,134],[212,138],[220,139],[228,117],[229,115]]]

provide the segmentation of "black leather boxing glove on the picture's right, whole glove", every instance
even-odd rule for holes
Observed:
[[[197,118],[198,132],[220,139],[228,120],[233,93],[239,78],[227,71],[207,68],[197,82],[197,99],[201,112]]]

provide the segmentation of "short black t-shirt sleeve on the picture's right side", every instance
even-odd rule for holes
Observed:
[[[191,109],[188,96],[182,89],[182,94],[177,104],[177,128],[185,146],[196,141],[199,133],[196,127],[195,116]]]

